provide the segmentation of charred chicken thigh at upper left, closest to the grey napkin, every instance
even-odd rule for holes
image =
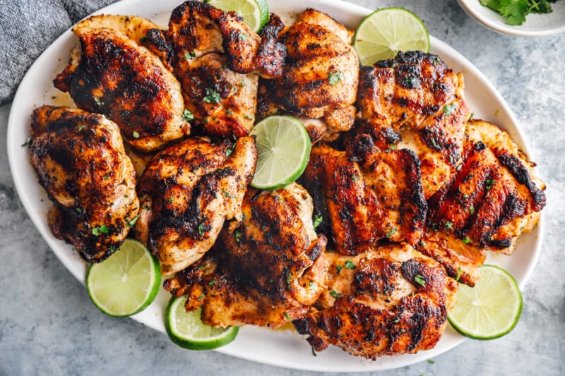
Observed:
[[[134,16],[93,16],[73,32],[79,45],[54,85],[77,107],[115,121],[142,152],[190,133],[181,87],[160,59],[140,45],[156,25]]]

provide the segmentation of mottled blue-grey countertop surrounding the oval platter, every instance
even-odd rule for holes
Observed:
[[[516,114],[530,157],[547,183],[540,260],[523,289],[516,329],[382,375],[565,374],[565,34],[527,39],[499,35],[469,18],[456,0],[369,1],[404,6],[487,76]],[[0,107],[6,137],[10,105]],[[0,375],[306,375],[214,351],[184,351],[165,334],[102,315],[59,262],[18,200],[0,142]],[[69,309],[72,308],[72,309]]]

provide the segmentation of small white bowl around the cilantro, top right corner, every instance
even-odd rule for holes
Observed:
[[[521,37],[545,37],[565,32],[565,0],[552,3],[552,13],[528,14],[525,17],[525,23],[520,26],[507,25],[499,13],[482,6],[479,0],[457,1],[469,16],[497,32]]]

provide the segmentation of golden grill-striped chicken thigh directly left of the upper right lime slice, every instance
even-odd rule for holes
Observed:
[[[359,59],[351,37],[345,26],[314,9],[281,36],[287,59],[274,84],[275,100],[286,111],[323,119],[324,140],[335,140],[354,123]]]

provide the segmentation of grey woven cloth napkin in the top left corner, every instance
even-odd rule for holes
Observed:
[[[0,104],[37,56],[78,20],[117,0],[0,0]]]

